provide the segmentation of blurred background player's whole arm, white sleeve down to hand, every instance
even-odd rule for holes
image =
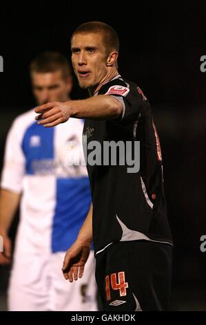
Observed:
[[[0,236],[3,236],[3,252],[0,264],[8,264],[11,259],[11,241],[8,236],[21,197],[25,158],[21,149],[21,125],[14,120],[6,139],[6,149],[1,174],[0,190]]]

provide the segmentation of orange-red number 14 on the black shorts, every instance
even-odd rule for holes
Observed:
[[[111,299],[111,289],[119,290],[119,295],[123,297],[127,295],[127,288],[128,283],[125,282],[125,272],[112,273],[112,275],[105,277],[107,301]]]

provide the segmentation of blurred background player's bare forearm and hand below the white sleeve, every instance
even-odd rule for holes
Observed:
[[[3,237],[3,252],[0,252],[0,264],[10,263],[11,241],[8,231],[19,205],[21,194],[8,189],[0,190],[0,235]]]

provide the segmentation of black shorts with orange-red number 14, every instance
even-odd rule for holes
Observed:
[[[125,241],[96,255],[103,310],[169,310],[172,246]]]

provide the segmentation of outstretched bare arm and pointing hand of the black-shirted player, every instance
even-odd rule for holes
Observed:
[[[69,100],[68,102],[50,102],[34,110],[38,124],[44,127],[55,127],[69,118],[89,118],[105,120],[116,118],[123,111],[119,100],[109,95],[97,95],[86,100]]]

